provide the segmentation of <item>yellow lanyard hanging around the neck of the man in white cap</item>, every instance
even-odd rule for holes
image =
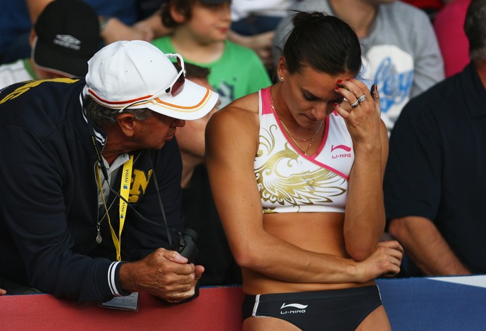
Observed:
[[[108,224],[110,225],[111,239],[113,239],[113,244],[115,245],[117,261],[121,261],[121,233],[123,231],[125,216],[127,214],[127,203],[125,201],[128,201],[128,196],[130,194],[130,182],[132,181],[132,166],[133,155],[130,155],[130,158],[125,163],[123,163],[123,173],[120,182],[120,227],[118,230],[118,237],[115,230],[113,230],[113,226],[111,226],[111,220],[108,214],[108,208],[106,207],[105,196],[103,194],[103,186],[101,185],[99,171],[96,169],[96,181],[98,182],[99,190],[101,192],[101,199],[103,199],[103,204],[105,206],[106,218],[108,218]],[[110,185],[110,183],[108,183],[108,185]]]

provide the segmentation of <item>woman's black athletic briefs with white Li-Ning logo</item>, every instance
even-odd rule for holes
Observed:
[[[243,320],[268,316],[301,330],[354,330],[382,305],[376,285],[327,291],[246,295]]]

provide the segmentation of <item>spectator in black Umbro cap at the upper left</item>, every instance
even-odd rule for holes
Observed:
[[[85,77],[88,60],[99,49],[94,10],[80,0],[46,6],[30,33],[32,55],[0,65],[0,88],[24,80]]]

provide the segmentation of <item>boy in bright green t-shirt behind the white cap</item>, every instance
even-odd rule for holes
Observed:
[[[168,0],[161,10],[162,24],[173,32],[152,44],[209,68],[208,79],[222,107],[271,84],[258,55],[228,40],[230,0]]]

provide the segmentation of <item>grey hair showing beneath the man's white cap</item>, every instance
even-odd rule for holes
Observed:
[[[116,118],[120,115],[118,110],[102,106],[90,96],[85,97],[84,107],[89,120],[98,126],[116,123]],[[133,114],[137,120],[147,120],[154,114],[149,108],[125,109],[123,113]]]

